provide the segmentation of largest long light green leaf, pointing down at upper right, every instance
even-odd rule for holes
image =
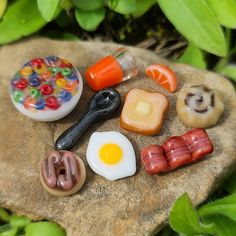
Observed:
[[[226,56],[227,48],[220,24],[205,0],[157,0],[176,29],[199,48]]]

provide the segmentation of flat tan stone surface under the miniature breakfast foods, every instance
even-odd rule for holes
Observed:
[[[137,59],[139,75],[117,89],[125,95],[129,89],[138,87],[162,92],[168,97],[170,109],[160,135],[146,137],[120,130],[118,114],[114,119],[98,123],[74,148],[87,169],[87,180],[81,191],[68,197],[54,197],[44,191],[39,181],[39,163],[53,149],[59,134],[81,117],[93,92],[85,85],[81,100],[69,116],[54,123],[40,123],[13,107],[8,95],[10,79],[25,61],[48,55],[69,59],[83,73],[91,63],[117,47],[99,42],[30,39],[0,48],[1,206],[34,219],[54,220],[67,229],[69,236],[147,235],[167,221],[171,205],[183,192],[188,192],[194,204],[199,204],[232,171],[236,164],[236,95],[230,82],[211,72],[171,64],[150,51],[130,48]],[[171,66],[180,81],[178,90],[184,83],[204,83],[218,89],[225,95],[226,110],[219,123],[207,129],[215,146],[212,155],[191,166],[150,177],[140,165],[140,149],[189,130],[176,115],[177,93],[169,94],[145,76],[145,68],[153,63]],[[137,173],[133,177],[110,182],[91,171],[85,151],[95,130],[121,131],[130,139],[137,154]]]

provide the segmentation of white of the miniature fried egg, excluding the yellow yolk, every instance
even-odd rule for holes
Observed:
[[[105,144],[117,144],[122,150],[122,158],[117,164],[106,164],[99,157],[99,151]],[[131,142],[116,131],[94,132],[87,148],[87,161],[91,169],[108,180],[117,180],[136,172],[136,158]]]

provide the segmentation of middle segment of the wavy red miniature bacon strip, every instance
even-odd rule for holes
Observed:
[[[191,153],[182,137],[171,137],[163,143],[162,147],[170,170],[191,162]]]

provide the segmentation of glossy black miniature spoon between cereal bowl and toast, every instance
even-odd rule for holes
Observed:
[[[120,105],[121,97],[116,90],[108,88],[97,92],[91,98],[88,110],[83,117],[58,137],[55,144],[56,149],[71,149],[89,126],[112,117]]]

